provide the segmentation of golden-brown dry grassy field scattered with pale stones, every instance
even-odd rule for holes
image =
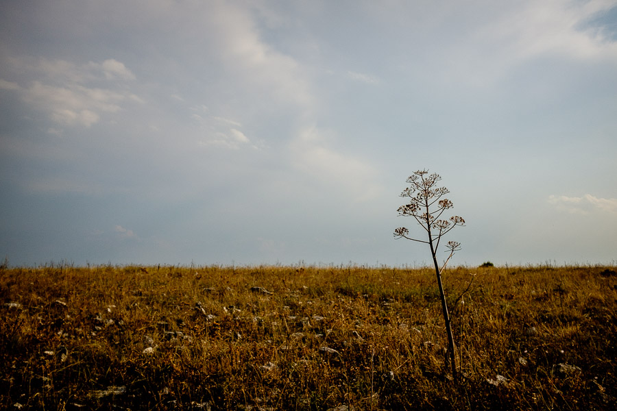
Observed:
[[[615,269],[3,267],[0,408],[617,409]]]

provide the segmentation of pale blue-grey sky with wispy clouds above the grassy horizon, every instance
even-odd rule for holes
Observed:
[[[450,264],[617,264],[616,155],[615,0],[0,3],[11,266],[422,266],[422,169]]]

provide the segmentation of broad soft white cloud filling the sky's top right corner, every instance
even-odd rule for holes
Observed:
[[[595,16],[616,5],[614,0],[484,4],[483,12],[457,22],[463,25],[458,27],[459,36],[441,47],[434,71],[447,84],[487,87],[537,58],[617,62],[614,37],[591,24]],[[459,7],[461,14],[468,8],[463,3]],[[451,14],[443,18],[440,23],[449,24]]]

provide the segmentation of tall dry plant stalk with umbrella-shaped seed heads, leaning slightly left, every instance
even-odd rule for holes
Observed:
[[[407,238],[407,240],[424,242],[431,247],[431,256],[435,266],[435,275],[437,276],[437,286],[439,286],[439,297],[441,298],[441,310],[444,314],[446,323],[446,334],[448,336],[448,356],[450,357],[450,368],[452,370],[452,378],[457,381],[457,364],[455,354],[454,337],[452,336],[452,326],[450,325],[450,315],[448,314],[448,304],[446,303],[446,294],[444,286],[441,284],[441,273],[446,269],[446,264],[454,255],[455,251],[461,249],[461,244],[456,241],[448,241],[446,245],[448,258],[439,268],[437,262],[437,249],[441,238],[450,232],[457,225],[465,225],[465,220],[460,216],[451,216],[450,219],[440,219],[441,214],[453,207],[452,201],[443,198],[448,194],[446,187],[437,187],[437,182],[441,177],[433,173],[428,175],[427,170],[418,170],[407,179],[407,183],[411,184],[405,188],[400,194],[400,197],[409,198],[409,203],[398,208],[398,215],[412,216],[418,222],[420,227],[424,228],[428,235],[428,240],[419,240],[409,236],[409,229],[398,227],[394,230],[395,238]]]

